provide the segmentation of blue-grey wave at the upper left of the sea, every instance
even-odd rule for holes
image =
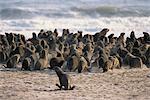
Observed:
[[[34,19],[36,17],[47,18],[70,18],[74,17],[74,13],[69,10],[60,9],[35,9],[35,8],[4,8],[0,10],[0,18],[2,20],[14,19]]]

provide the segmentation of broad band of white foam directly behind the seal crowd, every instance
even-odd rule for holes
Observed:
[[[13,25],[12,25],[13,23]],[[16,24],[16,25],[14,25]],[[109,28],[110,33],[115,33],[118,36],[121,32],[125,32],[126,36],[134,30],[136,36],[143,36],[142,32],[150,32],[150,17],[101,17],[92,18],[46,18],[38,17],[29,20],[0,20],[1,33],[17,32],[24,34],[27,38],[31,37],[32,32],[39,32],[40,29],[60,30],[68,28],[73,32],[82,30],[84,34],[94,34],[102,28]]]

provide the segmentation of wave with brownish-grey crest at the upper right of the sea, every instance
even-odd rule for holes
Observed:
[[[114,6],[100,5],[97,7],[73,7],[81,16],[89,17],[149,17],[149,6]]]

